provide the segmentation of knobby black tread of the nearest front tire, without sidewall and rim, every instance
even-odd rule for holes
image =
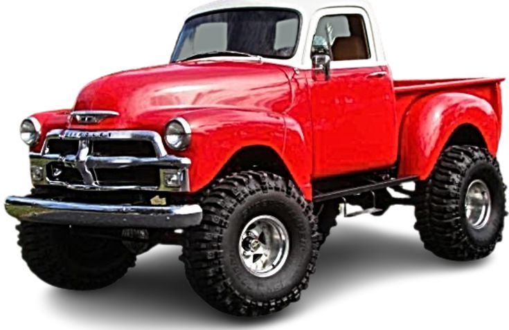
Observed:
[[[221,241],[228,227],[231,214],[238,205],[255,194],[283,192],[301,206],[309,219],[312,230],[312,257],[301,282],[284,297],[268,302],[251,299],[240,293],[224,272],[222,264]],[[238,316],[258,316],[275,313],[296,302],[301,291],[307,288],[310,275],[314,273],[318,257],[320,235],[313,214],[312,203],[307,202],[294,183],[268,172],[240,172],[220,178],[204,194],[202,225],[186,232],[181,260],[186,266],[186,276],[193,289],[206,302],[225,313]],[[230,197],[230,198],[226,198]],[[197,244],[199,242],[199,244]]]

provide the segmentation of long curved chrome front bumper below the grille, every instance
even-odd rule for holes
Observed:
[[[202,222],[199,205],[102,205],[10,196],[5,206],[20,221],[64,226],[181,229]]]

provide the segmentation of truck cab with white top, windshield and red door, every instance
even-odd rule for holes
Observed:
[[[298,84],[297,91],[301,84],[306,86],[310,98],[302,112],[307,113],[287,113],[301,126],[312,122],[307,135],[313,147],[306,157],[312,158],[312,178],[389,167],[398,158],[393,81],[375,15],[368,3],[332,2],[327,6],[323,1],[298,1],[298,6],[278,5],[276,10],[263,1],[253,8],[242,1],[222,1],[198,8],[190,14],[172,56],[179,62],[193,51],[238,51],[262,54],[264,62],[300,71],[289,73],[290,83]],[[213,7],[222,11],[208,15]],[[244,23],[257,15],[265,17],[263,28]],[[208,37],[211,34],[216,39]]]

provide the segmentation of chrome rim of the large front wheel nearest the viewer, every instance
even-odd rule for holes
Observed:
[[[277,218],[262,215],[249,221],[239,240],[242,264],[256,277],[275,275],[289,253],[288,232]]]

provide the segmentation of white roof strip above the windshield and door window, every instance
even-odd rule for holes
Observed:
[[[360,7],[369,9],[370,5],[364,0],[218,0],[200,6],[190,13],[190,16],[199,15],[204,12],[221,10],[226,8],[244,8],[244,7],[269,7],[269,8],[290,8],[301,12],[305,17],[312,15],[323,8],[334,7]]]

